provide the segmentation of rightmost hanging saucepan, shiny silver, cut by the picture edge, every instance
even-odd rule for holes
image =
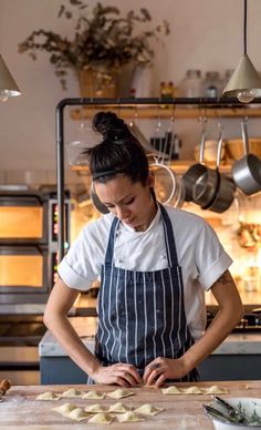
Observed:
[[[241,121],[244,156],[234,162],[232,176],[237,186],[247,195],[261,191],[261,160],[249,154],[247,117]]]

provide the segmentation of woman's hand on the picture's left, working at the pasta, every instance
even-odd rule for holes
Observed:
[[[112,366],[101,365],[90,376],[96,383],[117,383],[122,387],[133,387],[143,382],[136,368],[124,362]]]

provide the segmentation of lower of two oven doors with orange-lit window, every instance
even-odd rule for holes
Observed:
[[[0,247],[0,304],[46,298],[52,275],[48,246]]]

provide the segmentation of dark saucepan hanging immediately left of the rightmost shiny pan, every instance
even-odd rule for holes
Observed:
[[[202,209],[209,209],[220,214],[227,211],[231,206],[234,199],[234,192],[236,192],[236,185],[232,178],[219,172],[221,151],[222,151],[222,139],[220,139],[218,143],[217,168],[216,168],[218,174],[218,184],[217,184],[216,193],[213,195],[212,201],[210,201],[205,206],[201,206]]]

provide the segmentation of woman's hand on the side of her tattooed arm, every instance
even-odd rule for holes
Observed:
[[[188,372],[182,358],[158,357],[145,367],[143,379],[147,386],[160,387],[166,379],[178,379]]]

